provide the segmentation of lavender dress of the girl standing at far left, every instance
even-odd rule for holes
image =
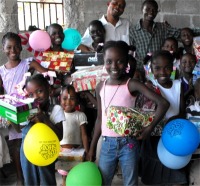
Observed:
[[[0,66],[0,76],[3,81],[5,94],[17,93],[15,86],[20,83],[24,74],[28,72],[32,57],[21,60],[21,62],[14,68],[6,69],[5,65]],[[13,127],[9,128],[9,140],[21,138],[21,133],[16,132]]]

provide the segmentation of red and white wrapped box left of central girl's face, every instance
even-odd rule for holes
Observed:
[[[108,74],[103,65],[91,66],[72,74],[73,86],[77,92],[95,90],[97,84],[107,78]]]

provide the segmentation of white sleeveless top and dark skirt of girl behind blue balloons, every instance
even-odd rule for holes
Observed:
[[[170,89],[163,88],[157,81],[161,95],[170,102],[166,119],[179,113],[181,82],[174,80]],[[151,136],[143,140],[141,147],[141,181],[147,185],[156,184],[185,184],[188,182],[186,168],[174,170],[165,167],[157,155],[160,136]]]

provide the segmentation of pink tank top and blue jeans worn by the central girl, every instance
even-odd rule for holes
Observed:
[[[99,158],[99,169],[104,185],[111,185],[118,162],[122,169],[123,184],[137,185],[138,183],[139,142],[133,136],[123,137],[106,127],[106,110],[109,106],[132,108],[135,106],[136,98],[130,94],[128,83],[129,80],[124,85],[106,85],[106,82],[104,82],[100,90],[102,147]]]

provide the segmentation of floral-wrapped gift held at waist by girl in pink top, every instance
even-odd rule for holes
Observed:
[[[107,127],[122,136],[135,136],[136,132],[151,124],[154,113],[137,109],[110,106],[107,114]]]

